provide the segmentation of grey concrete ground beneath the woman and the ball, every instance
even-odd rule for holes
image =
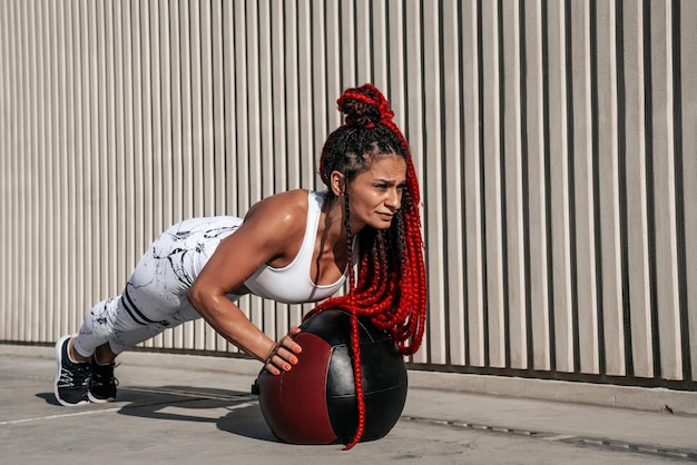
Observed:
[[[697,462],[697,415],[680,413],[691,412],[697,393],[678,396],[676,409],[646,412],[472,394],[452,388],[472,378],[423,372],[410,372],[402,417],[384,438],[348,452],[284,444],[249,392],[258,368],[251,360],[129,353],[116,370],[118,402],[62,407],[53,398],[52,348],[0,345],[0,463]]]

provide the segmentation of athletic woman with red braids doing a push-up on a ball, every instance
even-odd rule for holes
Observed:
[[[359,315],[387,332],[402,354],[416,352],[426,289],[410,149],[374,86],[346,90],[337,106],[345,122],[328,136],[320,160],[326,191],[277,194],[244,219],[195,218],[163,233],[121,295],[97,304],[77,335],[56,344],[60,404],[114,399],[118,354],[199,317],[269,373],[292,369],[301,360],[300,328],[269,339],[236,305],[248,293],[288,304],[324,300],[313,314],[351,313],[360,393]],[[330,298],[346,276],[348,291]],[[360,422],[354,443],[361,433]]]

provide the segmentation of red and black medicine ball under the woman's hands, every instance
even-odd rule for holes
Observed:
[[[351,350],[351,315],[325,310],[307,318],[295,337],[303,352],[289,372],[262,369],[255,384],[272,433],[293,444],[347,444],[359,409]],[[390,335],[359,318],[365,429],[361,441],[385,436],[406,400],[406,366]]]

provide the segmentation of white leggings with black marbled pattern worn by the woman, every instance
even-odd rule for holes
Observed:
[[[240,218],[193,218],[163,233],[143,256],[120,296],[95,305],[75,340],[88,357],[109,343],[115,354],[200,315],[186,294],[220,240],[242,225]],[[228,298],[236,300],[237,296]]]

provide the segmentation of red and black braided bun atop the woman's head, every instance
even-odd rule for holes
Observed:
[[[346,89],[336,100],[336,105],[338,111],[345,115],[347,126],[372,128],[394,116],[385,96],[372,83]]]

